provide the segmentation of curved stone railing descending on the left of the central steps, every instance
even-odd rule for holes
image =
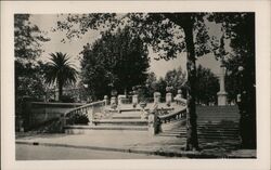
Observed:
[[[78,123],[76,122],[76,118],[78,117],[81,117],[80,120],[82,121],[79,123],[91,125],[92,121],[96,119],[99,115],[104,115],[104,110],[105,110],[105,101],[93,102],[80,107],[73,108],[62,115],[63,127]]]

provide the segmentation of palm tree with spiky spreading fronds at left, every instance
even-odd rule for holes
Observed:
[[[52,57],[47,63],[44,70],[46,83],[53,84],[56,81],[59,88],[59,99],[62,97],[63,87],[68,83],[75,83],[77,78],[77,70],[69,62],[67,54],[56,52],[50,54]]]

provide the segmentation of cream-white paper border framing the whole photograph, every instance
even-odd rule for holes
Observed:
[[[1,2],[1,164],[5,169],[270,169],[270,1],[2,1]],[[15,160],[14,14],[95,12],[255,12],[257,158],[256,159],[131,159]]]

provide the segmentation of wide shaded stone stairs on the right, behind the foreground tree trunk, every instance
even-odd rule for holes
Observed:
[[[197,106],[197,134],[199,143],[238,143],[237,106]],[[162,128],[162,136],[185,138],[185,121]]]

